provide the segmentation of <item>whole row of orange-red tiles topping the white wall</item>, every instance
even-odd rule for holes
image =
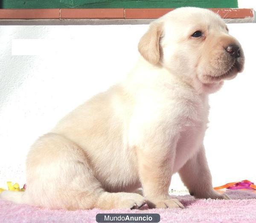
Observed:
[[[0,19],[155,19],[174,9],[0,9]],[[253,9],[210,9],[227,19],[253,18]]]

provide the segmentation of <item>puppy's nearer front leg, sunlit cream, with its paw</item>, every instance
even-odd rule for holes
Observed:
[[[169,196],[177,139],[169,142],[151,139],[137,148],[137,158],[143,195],[150,208],[184,208]]]

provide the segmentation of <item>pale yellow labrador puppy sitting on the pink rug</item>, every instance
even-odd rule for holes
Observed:
[[[124,82],[32,145],[26,191],[3,199],[70,210],[183,207],[168,193],[176,172],[195,197],[228,199],[212,189],[203,139],[209,93],[243,69],[239,42],[218,15],[187,7],[151,23],[138,49]]]

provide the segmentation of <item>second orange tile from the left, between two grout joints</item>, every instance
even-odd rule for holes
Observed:
[[[124,9],[61,9],[61,19],[123,19]]]

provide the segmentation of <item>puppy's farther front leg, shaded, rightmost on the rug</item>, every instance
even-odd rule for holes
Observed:
[[[179,171],[180,178],[195,198],[230,199],[212,188],[212,176],[205,156],[204,146],[189,159]]]

